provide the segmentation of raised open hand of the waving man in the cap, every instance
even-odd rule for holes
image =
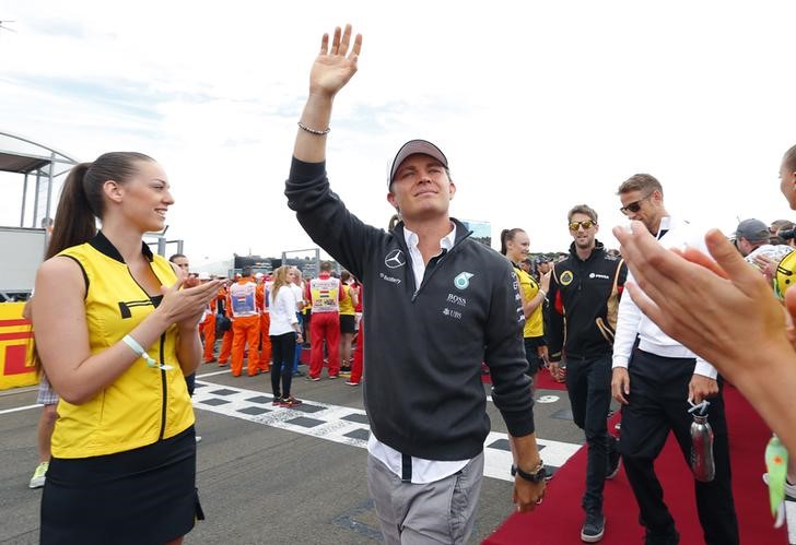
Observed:
[[[329,35],[320,40],[320,52],[309,72],[309,94],[332,97],[356,72],[356,61],[362,50],[362,35],[358,34],[351,44],[351,25],[344,31],[338,26],[329,47]]]

